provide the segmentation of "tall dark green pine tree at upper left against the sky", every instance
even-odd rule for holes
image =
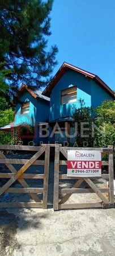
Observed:
[[[10,93],[17,86],[45,86],[57,64],[57,46],[46,51],[53,0],[0,1],[0,61],[10,74]]]

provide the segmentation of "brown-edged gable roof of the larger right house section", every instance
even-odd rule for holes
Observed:
[[[95,82],[97,82],[97,84],[99,84],[104,90],[106,90],[110,96],[112,96],[114,98],[114,93],[113,91],[109,88],[109,86],[107,84],[105,84],[105,82],[103,80],[101,80],[99,78],[99,76],[94,75],[90,72],[84,71],[83,69],[77,68],[71,64],[68,64],[66,62],[64,62],[61,66],[61,68],[59,68],[58,72],[56,73],[56,75],[53,77],[52,81],[50,81],[49,85],[46,86],[45,90],[42,92],[42,95],[45,95],[47,97],[50,97],[50,93],[52,92],[52,89],[54,88],[54,86],[57,84],[57,82],[61,79],[61,77],[66,73],[66,71],[69,70],[73,70],[75,72],[81,73],[82,75],[86,76],[88,79],[92,79]]]

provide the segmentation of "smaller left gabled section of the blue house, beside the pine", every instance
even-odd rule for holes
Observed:
[[[43,96],[41,90],[28,89],[26,85],[22,85],[19,89],[19,96],[16,97],[14,127],[32,126],[35,129],[33,136],[34,142],[40,141],[40,123],[49,122],[50,98]],[[25,134],[24,134],[25,138]],[[29,135],[27,134],[27,138]],[[48,138],[43,138],[43,142],[47,142]]]

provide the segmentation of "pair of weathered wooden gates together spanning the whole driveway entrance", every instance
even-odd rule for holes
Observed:
[[[85,148],[85,150],[99,150],[101,156],[108,154],[108,161],[101,160],[102,166],[108,166],[108,174],[102,174],[101,178],[109,181],[109,188],[97,188],[92,180],[100,177],[67,177],[67,174],[59,174],[59,166],[67,166],[67,160],[59,160],[59,152],[67,159],[67,150],[84,150],[84,148],[75,147],[62,147],[61,144],[43,144],[40,147],[35,146],[15,146],[15,145],[0,145],[0,163],[6,164],[9,172],[1,173],[0,178],[8,179],[5,185],[0,188],[0,196],[3,193],[28,193],[31,199],[34,200],[31,203],[17,203],[17,202],[2,202],[0,201],[0,207],[3,208],[47,208],[48,202],[48,179],[49,179],[49,157],[50,147],[55,146],[55,161],[54,161],[54,210],[58,209],[75,209],[75,208],[112,208],[114,207],[114,185],[113,185],[113,147],[108,148]],[[2,151],[1,151],[2,150]],[[20,150],[20,151],[37,151],[31,159],[8,159],[3,150]],[[38,160],[44,153],[44,160]],[[22,164],[18,171],[16,171],[14,164]],[[27,174],[25,173],[30,166],[44,166],[44,174]],[[32,188],[29,187],[25,179],[43,179],[43,187]],[[18,180],[22,185],[22,188],[11,187],[11,185]],[[59,189],[59,180],[77,180],[72,188]],[[86,181],[90,188],[79,188],[80,185]],[[39,199],[37,193],[42,193],[42,201]],[[67,200],[73,193],[96,193],[100,197],[100,203],[82,203],[82,204],[67,204]],[[109,199],[103,195],[103,193],[109,193]],[[59,201],[59,195],[64,195]],[[1,197],[0,197],[1,199]]]

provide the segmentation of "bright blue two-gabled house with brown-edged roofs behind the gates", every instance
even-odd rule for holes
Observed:
[[[31,125],[35,127],[34,142],[72,143],[74,139],[67,134],[74,134],[73,105],[79,108],[80,98],[86,106],[96,108],[105,100],[114,100],[114,93],[98,76],[63,63],[44,92],[32,92],[24,84],[20,87],[14,122],[1,130]]]

